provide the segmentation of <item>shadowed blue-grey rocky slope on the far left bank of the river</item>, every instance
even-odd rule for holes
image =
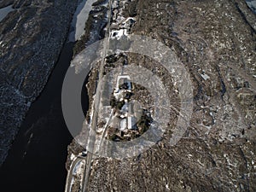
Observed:
[[[78,1],[3,0],[0,27],[0,165],[58,60]]]

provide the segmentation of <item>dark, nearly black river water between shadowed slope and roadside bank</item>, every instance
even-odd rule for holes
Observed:
[[[44,91],[26,114],[1,167],[5,191],[64,191],[67,145],[73,137],[62,117],[61,87],[72,57],[73,43],[67,43]],[[86,110],[86,94],[83,96]]]

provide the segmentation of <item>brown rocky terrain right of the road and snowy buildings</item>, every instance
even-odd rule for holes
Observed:
[[[175,146],[170,138],[177,111],[165,136],[145,153],[94,160],[89,191],[256,191],[256,16],[247,3],[131,0],[116,14],[135,18],[131,33],[175,52],[193,83],[194,110]],[[129,60],[154,66],[143,55]],[[158,75],[174,89],[164,71]],[[79,150],[74,143],[69,148]]]

